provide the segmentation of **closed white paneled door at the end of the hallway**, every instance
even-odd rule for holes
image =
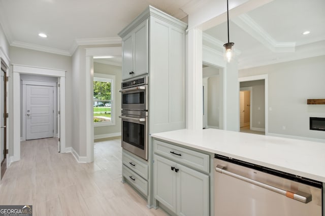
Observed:
[[[53,137],[53,87],[26,85],[26,140]]]

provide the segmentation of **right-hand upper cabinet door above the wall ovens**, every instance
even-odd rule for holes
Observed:
[[[138,76],[148,73],[148,20],[135,29],[134,41],[134,69],[135,75]]]

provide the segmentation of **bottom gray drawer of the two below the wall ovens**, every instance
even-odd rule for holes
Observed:
[[[148,182],[125,165],[122,166],[123,177],[145,196],[148,196]]]

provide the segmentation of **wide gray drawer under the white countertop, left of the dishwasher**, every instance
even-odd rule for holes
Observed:
[[[209,155],[207,154],[158,140],[154,141],[154,152],[166,158],[180,162],[186,166],[209,173]]]

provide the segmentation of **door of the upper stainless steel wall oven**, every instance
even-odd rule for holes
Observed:
[[[148,86],[140,85],[127,89],[121,89],[122,109],[124,110],[148,110]]]

